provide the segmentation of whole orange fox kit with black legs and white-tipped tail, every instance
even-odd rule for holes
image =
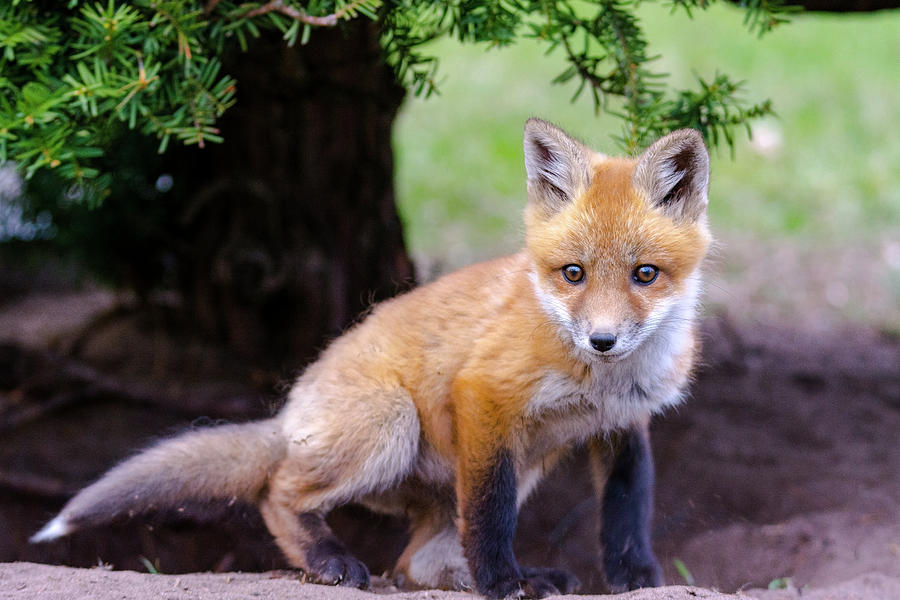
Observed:
[[[611,157],[532,118],[524,162],[521,251],[377,304],[306,367],[275,416],[152,445],[31,541],[241,501],[308,580],[366,588],[368,568],[326,522],[355,503],[408,520],[393,570],[408,584],[568,594],[577,577],[520,565],[513,539],[541,478],[587,447],[607,586],[662,585],[648,427],[682,402],[699,352],[708,151],[682,129]]]

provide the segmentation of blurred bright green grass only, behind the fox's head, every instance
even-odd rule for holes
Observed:
[[[713,155],[710,212],[720,234],[809,244],[900,239],[900,12],[799,15],[757,39],[739,10],[716,6],[691,20],[658,4],[640,10],[657,69],[673,83],[716,71],[746,82],[746,99],[770,98],[779,118],[757,140],[739,132],[734,158]],[[572,86],[554,86],[558,55],[532,42],[485,51],[451,41],[441,95],[410,98],[395,129],[398,201],[417,257],[455,267],[518,247],[525,199],[522,125],[556,122],[618,153],[621,124],[594,116]],[[896,274],[895,274],[896,276]]]

